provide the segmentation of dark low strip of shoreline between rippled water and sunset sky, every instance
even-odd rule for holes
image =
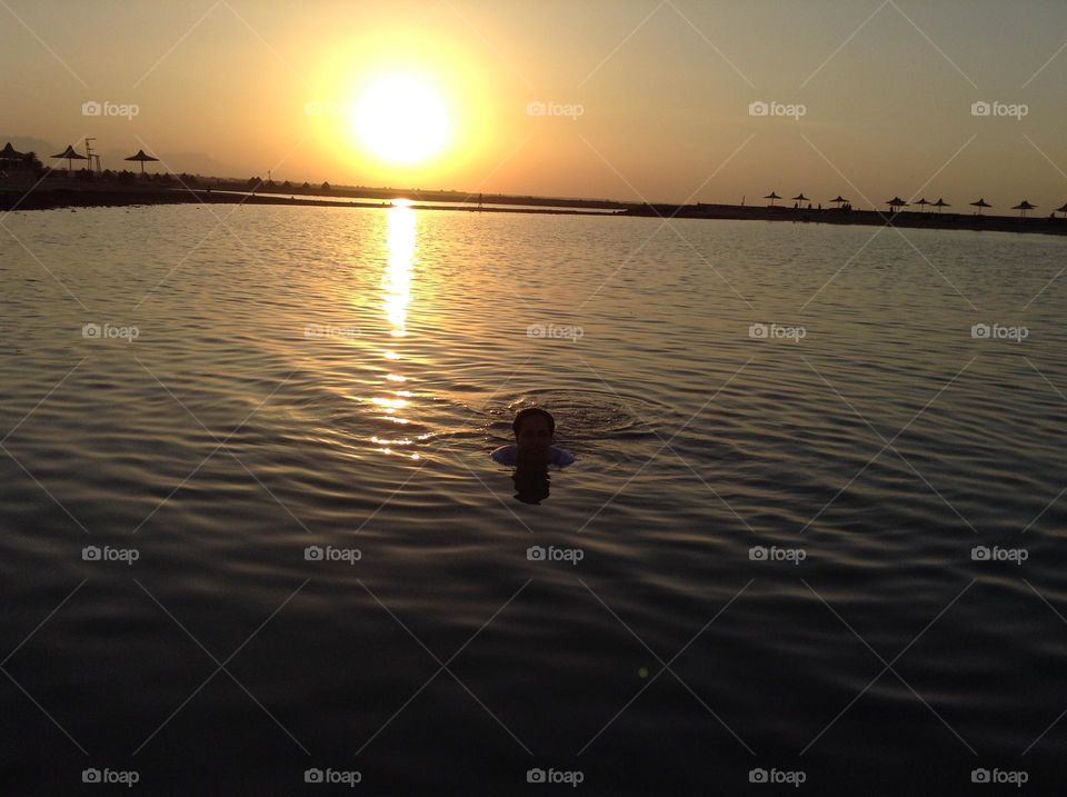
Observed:
[[[331,198],[322,195],[261,196],[258,193],[229,192],[207,189],[170,189],[148,187],[52,187],[41,186],[29,195],[26,190],[0,188],[0,211],[14,210],[58,210],[63,208],[133,207],[147,205],[270,205],[319,208],[363,208],[381,209],[391,207],[392,197],[382,198]],[[282,189],[283,190],[283,189]],[[278,191],[277,188],[272,192]],[[348,193],[348,192],[346,192]],[[396,198],[400,198],[398,193]],[[616,216],[676,219],[719,219],[746,221],[791,221],[795,223],[862,225],[884,226],[891,221],[894,227],[911,229],[974,230],[990,232],[1038,232],[1044,235],[1067,235],[1067,219],[1047,216],[1021,219],[1016,216],[977,216],[971,213],[936,213],[933,211],[898,211],[889,215],[876,210],[838,210],[836,208],[791,208],[761,207],[741,205],[626,205],[622,202],[594,202],[589,200],[562,200],[529,198],[530,205],[554,207],[481,207],[473,205],[472,197],[467,206],[438,205],[432,200],[418,201],[417,193],[406,195],[412,198],[411,207],[417,210],[450,210],[459,212],[486,213],[540,213],[554,216]],[[441,200],[438,200],[441,201]],[[448,201],[448,200],[446,200]],[[486,201],[500,205],[496,195]],[[517,202],[511,198],[511,202]],[[600,206],[599,208],[597,206]],[[607,207],[605,207],[607,206]]]

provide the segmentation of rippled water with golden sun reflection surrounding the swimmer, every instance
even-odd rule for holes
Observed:
[[[1063,241],[3,225],[6,791],[87,767],[151,794],[318,794],[308,768],[372,794],[536,793],[532,767],[592,794],[1063,787]],[[536,506],[487,457],[535,404],[578,457]]]

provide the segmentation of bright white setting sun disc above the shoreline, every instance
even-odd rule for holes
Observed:
[[[362,147],[398,166],[427,161],[451,132],[441,93],[428,80],[405,73],[373,78],[356,101],[349,123]]]

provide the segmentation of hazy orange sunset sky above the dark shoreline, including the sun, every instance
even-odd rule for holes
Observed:
[[[1060,1],[0,0],[0,141],[96,137],[106,168],[143,148],[276,181],[1067,202]]]

